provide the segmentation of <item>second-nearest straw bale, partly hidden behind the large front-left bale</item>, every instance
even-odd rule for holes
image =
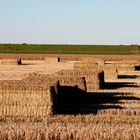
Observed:
[[[85,90],[85,80],[80,76],[73,75],[45,75],[45,74],[31,74],[28,78],[22,80],[24,84],[48,85],[56,81],[60,81],[62,86],[78,86]]]

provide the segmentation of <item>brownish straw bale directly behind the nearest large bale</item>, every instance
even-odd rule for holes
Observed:
[[[75,76],[76,75],[76,76]],[[81,73],[79,71],[72,70],[62,70],[57,73],[57,75],[44,75],[36,74],[33,77],[24,79],[25,85],[49,85],[57,82],[58,80],[63,86],[78,86],[79,88],[85,90],[84,80],[82,79]],[[34,87],[35,88],[35,87]]]

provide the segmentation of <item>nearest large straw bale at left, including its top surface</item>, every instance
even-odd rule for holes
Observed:
[[[54,85],[37,86],[15,82],[0,84],[0,117],[48,117],[53,114]]]

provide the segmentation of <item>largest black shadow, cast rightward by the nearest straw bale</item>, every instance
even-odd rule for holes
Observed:
[[[53,92],[52,88],[52,92]],[[102,109],[123,109],[121,100],[140,100],[130,93],[89,93],[78,87],[59,86],[53,101],[54,114],[97,114]]]

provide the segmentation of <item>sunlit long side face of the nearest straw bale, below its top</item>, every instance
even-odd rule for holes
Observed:
[[[0,91],[1,117],[46,117],[52,115],[49,91]]]

